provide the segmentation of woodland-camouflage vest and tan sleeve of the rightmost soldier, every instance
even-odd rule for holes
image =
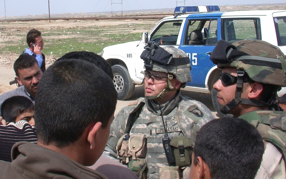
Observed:
[[[239,116],[239,118],[256,126],[264,140],[265,151],[255,178],[285,179],[285,156],[283,156],[283,152],[286,153],[286,114],[270,110],[252,111]]]

